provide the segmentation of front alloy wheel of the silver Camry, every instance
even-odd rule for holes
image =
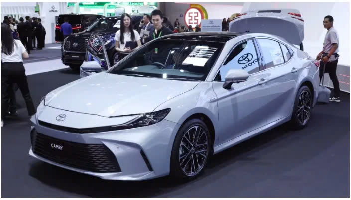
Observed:
[[[209,155],[207,134],[200,126],[193,126],[184,134],[179,147],[179,164],[187,176],[197,175]]]

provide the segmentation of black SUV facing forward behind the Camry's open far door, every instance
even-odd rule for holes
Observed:
[[[142,15],[132,16],[134,29],[137,28]],[[105,43],[110,65],[118,62],[118,52],[115,50],[115,34],[120,29],[120,17],[104,17],[97,20],[89,28],[81,33],[76,33],[65,38],[61,47],[61,60],[73,70],[79,70],[86,58],[87,44],[91,32],[98,34]],[[99,56],[99,55],[97,55]],[[102,56],[102,55],[101,55]]]

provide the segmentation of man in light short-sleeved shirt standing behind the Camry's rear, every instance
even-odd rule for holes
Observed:
[[[339,36],[337,30],[333,27],[333,17],[328,15],[324,17],[323,25],[326,28],[327,34],[323,42],[323,50],[317,55],[317,60],[320,60],[319,77],[320,80],[323,76],[323,67],[325,72],[329,74],[330,79],[333,82],[334,97],[329,98],[329,101],[340,102],[340,88],[339,80],[337,77],[337,66],[339,54]]]

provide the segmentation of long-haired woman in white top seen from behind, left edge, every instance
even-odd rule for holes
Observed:
[[[1,24],[1,127],[8,111],[8,90],[17,83],[27,105],[28,115],[35,114],[35,107],[29,93],[27,76],[23,66],[23,58],[29,58],[20,40],[14,40],[11,29]]]

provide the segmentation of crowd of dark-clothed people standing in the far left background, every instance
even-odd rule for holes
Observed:
[[[22,42],[28,54],[35,48],[41,50],[45,47],[46,31],[41,24],[41,18],[26,16],[17,21],[11,16],[5,16],[2,23],[10,27],[13,37]]]

